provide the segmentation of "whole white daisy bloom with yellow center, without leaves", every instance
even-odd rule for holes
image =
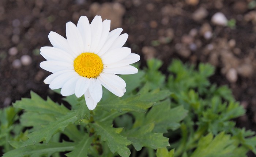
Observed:
[[[110,20],[102,22],[95,16],[91,24],[81,16],[77,26],[66,25],[67,39],[50,32],[53,47],[42,47],[41,55],[46,59],[40,67],[53,74],[46,77],[50,89],[61,88],[63,96],[84,94],[86,105],[95,109],[102,98],[102,86],[118,97],[125,93],[125,81],[116,74],[134,74],[138,69],[129,65],[140,60],[140,56],[123,47],[128,35],[120,35],[121,28],[109,32]]]

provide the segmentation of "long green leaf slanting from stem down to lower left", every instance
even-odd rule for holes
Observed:
[[[54,134],[63,131],[69,124],[74,123],[76,120],[77,118],[74,112],[58,117],[56,121],[50,122],[48,125],[45,125],[44,128],[28,134],[27,137],[29,139],[25,141],[22,146],[33,145],[41,141],[48,143]]]

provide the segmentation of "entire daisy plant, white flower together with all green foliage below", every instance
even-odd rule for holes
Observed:
[[[109,20],[82,16],[77,26],[67,23],[67,39],[49,33],[53,47],[41,48],[40,67],[52,72],[44,82],[61,104],[31,92],[0,109],[3,157],[256,154],[255,132],[232,121],[245,109],[227,86],[208,80],[214,67],[172,60],[163,75],[152,59],[138,71],[139,55],[123,47],[128,35],[109,30]]]

